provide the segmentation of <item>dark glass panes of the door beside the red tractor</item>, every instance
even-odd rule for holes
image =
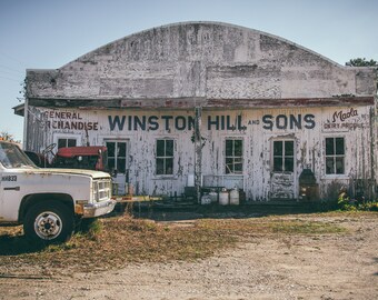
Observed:
[[[108,168],[126,173],[127,163],[127,142],[126,141],[107,141],[108,148]]]

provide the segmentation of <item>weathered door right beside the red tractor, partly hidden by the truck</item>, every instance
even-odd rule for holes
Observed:
[[[113,177],[115,194],[126,194],[129,184],[129,140],[107,140],[108,168]]]

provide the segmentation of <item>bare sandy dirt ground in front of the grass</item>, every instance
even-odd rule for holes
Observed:
[[[177,219],[163,224],[185,230],[198,222]],[[232,219],[221,221],[227,227]],[[305,232],[279,227],[265,232],[263,227],[250,227],[239,232],[232,248],[205,259],[132,262],[108,271],[14,264],[17,256],[2,256],[0,299],[377,299],[377,213],[259,219],[260,224],[265,221],[327,223],[346,230],[308,233],[304,226]]]

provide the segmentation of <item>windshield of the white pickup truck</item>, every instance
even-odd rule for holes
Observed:
[[[0,162],[7,169],[37,168],[18,146],[8,142],[0,143]]]

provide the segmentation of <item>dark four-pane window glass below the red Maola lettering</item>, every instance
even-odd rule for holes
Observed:
[[[326,138],[326,174],[345,173],[344,138]]]

